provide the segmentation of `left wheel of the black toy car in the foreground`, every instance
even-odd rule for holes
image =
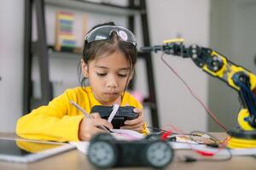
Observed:
[[[88,159],[96,167],[113,167],[117,161],[116,147],[110,141],[93,141],[88,148]]]

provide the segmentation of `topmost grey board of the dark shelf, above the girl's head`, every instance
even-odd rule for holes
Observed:
[[[73,8],[76,10],[100,14],[119,14],[129,16],[145,13],[145,10],[141,8],[128,8],[108,3],[93,3],[82,0],[44,0],[44,3],[61,8]]]

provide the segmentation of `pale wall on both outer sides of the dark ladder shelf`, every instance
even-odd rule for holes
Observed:
[[[148,0],[151,43],[181,35],[188,43],[208,45],[209,0]],[[3,1],[0,6],[0,131],[14,131],[22,114],[24,1]],[[166,56],[168,62],[207,103],[207,75],[191,60]],[[154,54],[154,74],[161,125],[184,131],[206,130],[204,109],[166,65]]]

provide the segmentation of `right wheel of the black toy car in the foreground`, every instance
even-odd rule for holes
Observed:
[[[148,164],[157,168],[166,167],[173,158],[170,144],[160,140],[148,144],[145,154]]]

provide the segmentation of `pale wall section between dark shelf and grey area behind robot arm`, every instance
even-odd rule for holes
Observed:
[[[148,0],[147,3],[152,45],[181,36],[188,44],[208,46],[209,0]],[[166,55],[166,60],[207,104],[207,75],[190,59]],[[160,60],[160,53],[154,54],[153,61],[160,125],[172,124],[183,131],[207,130],[203,107]]]

